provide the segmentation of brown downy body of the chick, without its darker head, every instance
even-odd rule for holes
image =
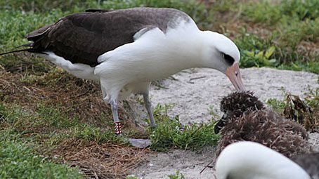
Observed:
[[[306,138],[308,133],[302,126],[282,119],[271,110],[245,112],[221,130],[216,154],[219,155],[223,148],[233,142],[247,140],[266,145],[286,157],[293,157],[311,151]]]

